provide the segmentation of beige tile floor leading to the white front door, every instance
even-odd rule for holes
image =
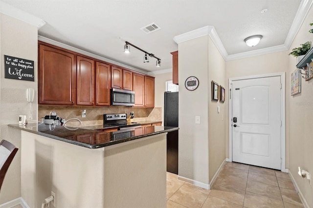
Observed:
[[[167,173],[167,208],[303,208],[287,173],[226,163],[210,190]]]

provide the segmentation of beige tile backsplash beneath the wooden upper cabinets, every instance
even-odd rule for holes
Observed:
[[[86,118],[82,118],[82,111],[86,110]],[[89,106],[38,106],[38,120],[42,121],[45,115],[50,112],[56,112],[63,119],[78,118],[82,124],[87,125],[102,125],[103,114],[108,113],[127,113],[129,116],[131,111],[134,111],[135,121],[162,121],[162,107],[155,108],[136,108],[123,106],[108,106],[108,107],[89,107]],[[69,124],[69,122],[68,122]]]

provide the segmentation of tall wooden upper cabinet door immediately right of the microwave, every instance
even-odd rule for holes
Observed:
[[[145,76],[133,73],[133,90],[135,92],[136,107],[144,107],[145,105]]]

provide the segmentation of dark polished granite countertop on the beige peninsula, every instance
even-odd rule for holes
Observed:
[[[105,132],[104,130],[106,128],[112,128],[114,126],[99,125],[98,130],[95,130],[96,128],[86,129],[83,126],[79,128],[74,128],[61,125],[45,125],[42,123],[29,123],[26,126],[9,124],[8,126],[67,142],[73,145],[87,147],[90,149],[116,145],[123,142],[128,142],[179,129],[179,127],[169,126],[147,126],[134,129]],[[101,130],[100,128],[103,130]]]

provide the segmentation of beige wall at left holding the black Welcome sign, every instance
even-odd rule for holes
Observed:
[[[37,118],[37,41],[37,27],[0,13],[0,138],[19,147],[2,184],[0,204],[21,196],[21,136],[7,125],[18,123],[19,115],[29,117],[29,87],[35,89],[32,109],[33,118]],[[34,61],[35,82],[5,79],[4,55]]]

